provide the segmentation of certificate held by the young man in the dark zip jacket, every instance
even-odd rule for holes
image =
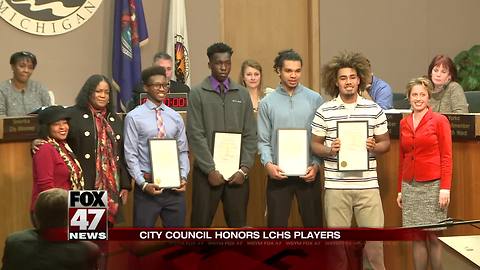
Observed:
[[[213,137],[213,161],[215,169],[228,180],[240,168],[242,134],[215,132]]]

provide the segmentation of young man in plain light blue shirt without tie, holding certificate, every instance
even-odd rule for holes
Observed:
[[[323,99],[300,84],[302,58],[297,52],[279,52],[273,68],[280,85],[262,99],[258,111],[258,150],[268,173],[267,225],[287,227],[296,196],[303,226],[321,227],[318,159],[309,142]]]

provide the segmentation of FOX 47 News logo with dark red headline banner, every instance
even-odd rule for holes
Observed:
[[[68,197],[68,240],[243,246],[425,239],[425,232],[415,228],[113,228],[109,232],[108,194],[105,190],[70,190]]]

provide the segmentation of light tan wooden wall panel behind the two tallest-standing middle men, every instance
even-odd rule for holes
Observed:
[[[221,37],[234,50],[232,79],[238,79],[241,63],[252,58],[262,65],[264,86],[275,88],[279,80],[272,68],[273,59],[280,50],[293,48],[303,58],[302,83],[314,87],[310,75],[312,46],[309,43],[319,37],[310,38],[311,33],[318,32],[309,26],[311,1],[220,1],[223,17]],[[318,4],[313,7],[318,10]],[[318,62],[319,53],[316,56]]]

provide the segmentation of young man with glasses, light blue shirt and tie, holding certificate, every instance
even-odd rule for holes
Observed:
[[[142,81],[148,100],[125,117],[125,159],[136,182],[133,225],[154,227],[160,216],[164,227],[183,227],[190,170],[185,125],[163,103],[169,92],[165,69],[143,70]]]

